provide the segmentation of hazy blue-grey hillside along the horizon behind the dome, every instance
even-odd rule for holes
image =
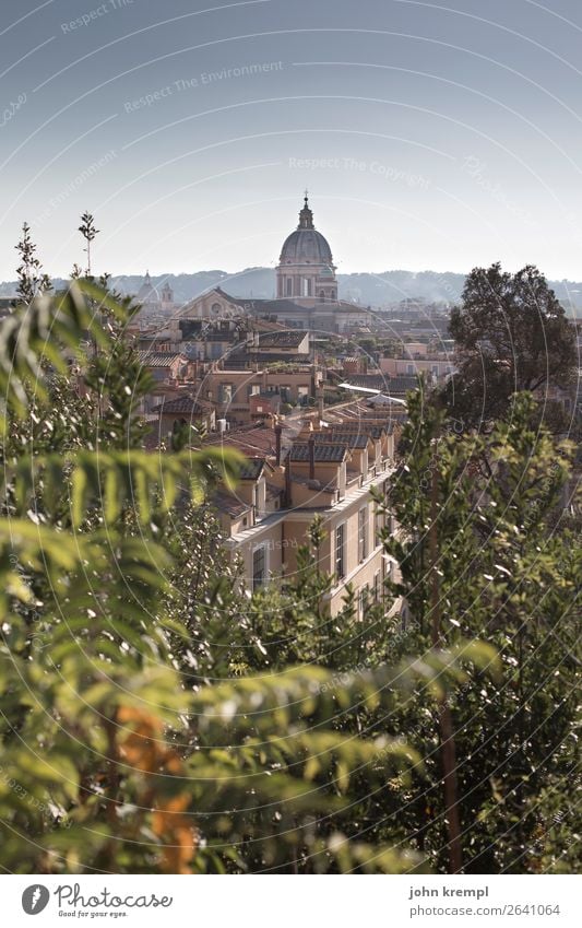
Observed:
[[[247,268],[229,274],[226,271],[199,271],[195,274],[168,274],[153,277],[155,285],[169,281],[177,303],[186,303],[211,286],[219,284],[227,293],[236,296],[272,298],[275,295],[275,272],[272,268]],[[337,274],[340,296],[365,306],[377,308],[397,303],[405,297],[423,297],[431,303],[455,303],[463,289],[463,274],[437,273],[436,271],[384,271],[383,273]],[[121,275],[112,279],[122,293],[136,293],[143,278]],[[62,283],[56,279],[58,286]],[[582,283],[550,281],[558,299],[571,307],[582,309]],[[0,296],[14,293],[13,281],[0,284]]]

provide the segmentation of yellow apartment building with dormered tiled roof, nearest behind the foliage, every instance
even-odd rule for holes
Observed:
[[[366,411],[353,422],[319,419],[297,425],[231,431],[214,443],[254,453],[236,493],[221,493],[219,513],[226,549],[242,564],[249,590],[293,578],[297,551],[308,539],[316,515],[325,533],[320,569],[333,577],[325,606],[332,615],[344,604],[346,585],[358,608],[379,600],[391,567],[378,532],[384,527],[370,496],[385,492],[393,472],[394,434],[385,416]]]

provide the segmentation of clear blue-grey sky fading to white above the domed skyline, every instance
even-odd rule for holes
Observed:
[[[275,267],[582,279],[580,0],[2,0],[0,280]]]

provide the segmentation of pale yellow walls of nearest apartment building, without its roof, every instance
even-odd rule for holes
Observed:
[[[379,540],[384,517],[377,513],[370,491],[375,489],[383,494],[388,489],[393,473],[392,436],[382,433],[375,439],[370,437],[364,448],[354,451],[348,439],[345,440],[342,460],[310,461],[309,454],[306,460],[292,460],[294,446],[284,463],[277,466],[272,461],[269,473],[261,479],[281,490],[284,503],[277,502],[276,509],[271,498],[262,513],[257,507],[253,513],[250,504],[252,498],[257,502],[258,497],[253,497],[257,491],[247,485],[237,492],[239,502],[249,508],[245,516],[239,514],[231,519],[227,548],[231,557],[239,560],[244,585],[249,591],[266,583],[293,578],[297,551],[308,543],[309,527],[319,515],[324,531],[319,567],[333,577],[332,588],[324,598],[330,613],[335,615],[342,610],[347,585],[360,611],[366,602],[382,596],[391,565]],[[337,437],[337,445],[340,442]],[[341,450],[337,448],[337,457]]]

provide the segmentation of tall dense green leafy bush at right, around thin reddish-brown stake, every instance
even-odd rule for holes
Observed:
[[[556,524],[573,448],[532,427],[522,393],[487,435],[459,436],[421,395],[409,396],[401,466],[387,507],[401,526],[385,548],[401,565],[395,595],[407,603],[411,645],[474,635],[500,655],[503,678],[448,697],[456,748],[465,872],[561,872],[571,867],[577,819],[567,794],[577,767],[581,571],[579,538]],[[479,479],[478,462],[491,462]],[[559,509],[558,509],[559,510]],[[436,544],[435,544],[436,542]],[[430,785],[413,800],[409,826],[436,869],[447,846],[433,749],[433,710],[421,696],[400,719],[415,730]],[[423,745],[425,748],[423,749]],[[561,797],[559,827],[551,824]],[[569,861],[569,862],[568,862]]]

